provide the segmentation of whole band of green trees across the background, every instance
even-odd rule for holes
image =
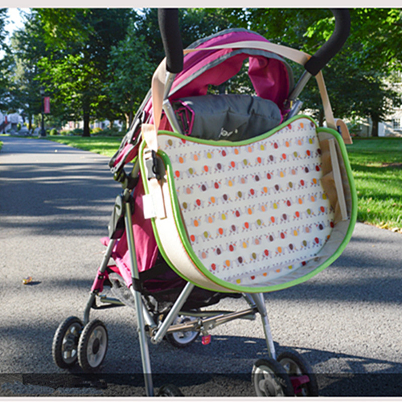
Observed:
[[[324,68],[336,117],[371,117],[375,128],[401,95],[389,85],[400,71],[402,11],[352,9],[351,35]],[[6,44],[7,9],[0,9],[0,110],[22,110],[31,121],[41,111],[39,88],[51,96],[52,116],[131,123],[157,64],[164,57],[156,9],[31,9],[23,29]],[[243,27],[308,53],[334,29],[323,9],[179,9],[184,46],[223,29]],[[303,67],[293,66],[296,77]],[[247,90],[246,71],[217,91]],[[249,87],[249,91],[252,88]],[[303,92],[304,107],[323,111],[315,83]],[[5,102],[7,99],[7,102]]]

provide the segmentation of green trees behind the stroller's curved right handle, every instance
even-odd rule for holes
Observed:
[[[334,18],[323,9],[223,9],[233,26],[250,27],[273,43],[314,54],[330,37]],[[211,14],[215,10],[209,10]],[[351,35],[323,72],[336,117],[371,117],[373,135],[378,122],[400,103],[400,95],[386,85],[401,68],[400,9],[353,9]],[[303,68],[293,65],[295,76]],[[313,80],[312,80],[313,81]],[[317,85],[309,82],[302,93],[304,107],[324,118]]]

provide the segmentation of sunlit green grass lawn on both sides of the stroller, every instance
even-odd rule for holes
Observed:
[[[46,139],[109,157],[121,141],[101,136]],[[357,138],[347,149],[358,196],[357,220],[402,232],[402,138]]]

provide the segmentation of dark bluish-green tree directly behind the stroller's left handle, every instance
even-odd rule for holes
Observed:
[[[180,9],[179,24],[184,47],[227,27],[220,13],[212,17],[203,9]],[[112,47],[105,84],[114,109],[124,113],[129,125],[163,57],[157,9],[144,9],[133,19],[125,39]]]

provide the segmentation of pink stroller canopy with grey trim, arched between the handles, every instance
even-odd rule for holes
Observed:
[[[261,35],[245,29],[228,29],[190,45],[202,49],[236,42],[268,42]],[[170,99],[207,94],[209,85],[220,85],[236,75],[245,59],[249,60],[248,74],[258,96],[272,100],[283,109],[293,88],[289,64],[275,53],[263,49],[225,48],[190,52],[184,56],[183,70],[177,74],[169,94]]]

